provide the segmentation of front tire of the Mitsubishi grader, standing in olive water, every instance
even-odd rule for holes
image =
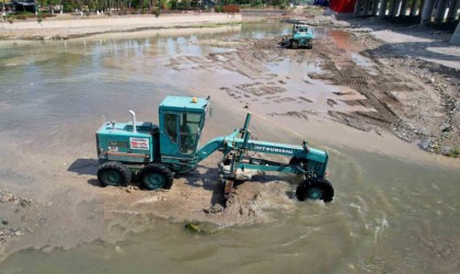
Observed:
[[[330,203],[334,198],[334,189],[327,180],[310,178],[297,186],[296,196],[299,201],[322,199]]]

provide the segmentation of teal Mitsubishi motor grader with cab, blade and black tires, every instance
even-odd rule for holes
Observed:
[[[309,147],[306,141],[294,146],[254,140],[249,130],[250,113],[242,128],[199,146],[209,110],[209,98],[166,96],[160,103],[158,125],[137,122],[134,111],[129,111],[133,122],[104,123],[96,132],[100,184],[124,186],[136,176],[146,190],[169,189],[173,173],[185,173],[220,151],[219,180],[226,184],[226,195],[230,195],[235,181],[251,180],[254,171],[275,171],[303,176],[296,191],[299,201],[333,199],[334,190],[325,179],[326,151]],[[286,156],[290,161],[261,159],[250,156],[251,151]]]

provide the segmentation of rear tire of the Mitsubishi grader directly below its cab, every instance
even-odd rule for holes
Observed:
[[[147,164],[140,171],[140,181],[146,190],[154,191],[160,189],[171,189],[173,174],[170,169],[161,163]]]

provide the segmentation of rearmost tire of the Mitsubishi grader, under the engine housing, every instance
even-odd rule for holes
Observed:
[[[101,186],[126,186],[131,181],[131,172],[120,162],[105,162],[99,167],[97,181]]]

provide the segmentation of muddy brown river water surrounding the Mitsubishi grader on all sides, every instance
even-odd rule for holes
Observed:
[[[343,136],[327,132],[329,127],[313,134],[309,130],[313,122],[273,115],[299,103],[277,106],[278,99],[264,101],[271,94],[254,94],[261,99],[251,101],[250,110],[256,114],[254,134],[287,144],[307,138],[327,149],[330,181],[336,193],[333,203],[297,202],[295,180],[289,175],[275,182],[261,180],[264,186],[255,206],[264,218],[240,225],[210,220],[211,232],[197,235],[185,230],[184,222],[200,217],[152,214],[149,207],[154,203],[125,208],[124,203],[142,204],[139,201],[147,194],[95,185],[94,132],[107,119],[129,119],[128,109],[137,111],[138,119],[156,122],[158,104],[165,95],[210,94],[214,111],[204,132],[206,141],[227,135],[244,119],[248,101],[232,93],[235,89],[229,91],[233,82],[245,83],[248,78],[256,84],[280,81],[289,71],[284,78],[285,94],[308,93],[309,100],[325,101],[338,88],[306,79],[307,71],[318,70],[315,60],[269,60],[266,69],[277,78],[267,79],[265,72],[252,76],[241,67],[237,73],[225,66],[208,66],[212,59],[203,59],[211,55],[217,56],[214,61],[232,62],[219,55],[234,50],[232,43],[289,30],[285,24],[243,24],[175,34],[148,31],[2,44],[0,187],[32,197],[37,206],[30,213],[2,207],[0,218],[24,212],[43,224],[28,230],[22,227],[23,236],[0,246],[0,273],[458,272],[458,162],[446,164],[429,157],[414,160],[402,157],[411,155],[405,150],[381,153],[377,141],[375,150],[364,150],[344,145]],[[327,35],[324,30],[315,32],[318,38]],[[340,36],[346,39],[346,34]],[[356,54],[354,58],[363,62]],[[336,107],[347,106],[338,103]],[[309,110],[319,113],[315,122],[325,119],[326,104],[312,104]],[[200,169],[212,171],[212,164],[211,159]],[[179,180],[177,185],[184,182]],[[183,203],[200,212],[202,205],[193,197]]]

